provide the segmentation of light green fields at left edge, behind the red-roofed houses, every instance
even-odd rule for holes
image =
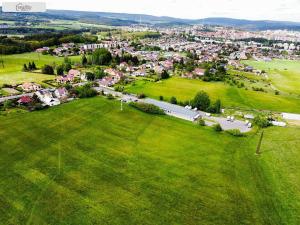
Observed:
[[[41,68],[45,64],[53,65],[63,62],[64,58],[38,53],[24,53],[16,55],[2,55],[4,68],[0,64],[0,85],[2,84],[19,84],[25,81],[42,83],[43,80],[54,79],[52,75],[40,73],[22,72],[23,64],[34,61],[37,67]],[[77,60],[78,57],[70,57],[71,60]]]

